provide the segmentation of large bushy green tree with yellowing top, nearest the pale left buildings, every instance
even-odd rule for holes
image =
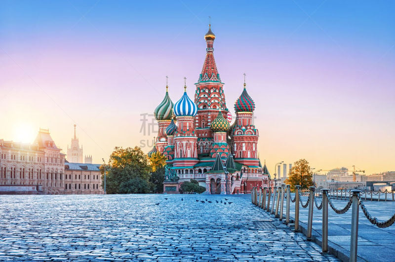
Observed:
[[[104,183],[104,166],[101,172]],[[152,192],[150,172],[149,159],[139,147],[116,147],[106,166],[106,191],[109,194]]]

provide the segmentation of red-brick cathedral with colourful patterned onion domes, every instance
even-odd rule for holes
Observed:
[[[206,58],[195,84],[195,101],[185,85],[184,94],[173,104],[166,85],[164,99],[154,111],[158,137],[148,154],[159,152],[167,158],[163,191],[178,193],[179,186],[191,179],[209,194],[250,193],[252,187],[268,187],[270,175],[259,160],[259,132],[252,122],[255,103],[244,81],[231,125],[224,83],[215,65],[211,25],[204,39]]]

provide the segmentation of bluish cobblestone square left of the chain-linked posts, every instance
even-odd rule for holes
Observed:
[[[275,229],[257,228],[254,221],[272,218],[250,200],[250,195],[3,195],[0,261],[337,261],[276,220]]]

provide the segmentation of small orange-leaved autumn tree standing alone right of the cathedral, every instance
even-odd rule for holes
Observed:
[[[295,186],[301,186],[301,189],[307,189],[313,186],[313,172],[306,159],[299,159],[296,161],[291,170],[289,170],[289,177],[285,183],[291,185],[291,191],[295,191]]]

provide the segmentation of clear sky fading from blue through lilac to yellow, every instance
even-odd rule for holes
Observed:
[[[258,150],[316,170],[395,170],[394,1],[0,1],[0,139],[148,152],[153,111],[191,98],[211,16],[228,108],[243,73]]]

